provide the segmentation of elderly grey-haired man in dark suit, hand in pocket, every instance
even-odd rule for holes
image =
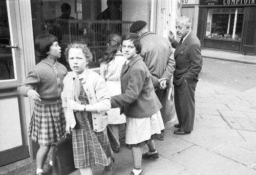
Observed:
[[[174,72],[174,98],[179,128],[174,134],[190,134],[195,119],[195,91],[198,74],[202,69],[201,44],[191,32],[191,21],[182,16],[176,21],[176,32],[180,42],[174,52],[176,70]]]

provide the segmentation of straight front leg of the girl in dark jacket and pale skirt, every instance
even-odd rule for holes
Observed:
[[[135,175],[140,174],[141,169],[141,160],[142,160],[142,150],[141,147],[132,147],[132,154],[133,154],[133,161],[134,161],[134,168],[133,172]]]

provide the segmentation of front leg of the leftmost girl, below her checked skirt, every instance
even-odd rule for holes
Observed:
[[[44,168],[44,164],[45,164],[49,149],[50,149],[50,145],[40,145],[36,154],[36,165],[37,165],[36,173],[39,173],[40,171],[42,171],[42,168]]]

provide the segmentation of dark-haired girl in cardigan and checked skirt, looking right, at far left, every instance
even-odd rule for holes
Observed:
[[[52,166],[51,144],[60,140],[65,133],[66,121],[60,95],[63,89],[62,81],[68,71],[57,61],[61,56],[57,40],[53,35],[36,37],[35,52],[41,61],[29,72],[25,82],[18,86],[20,95],[35,100],[28,135],[39,144],[36,174],[40,175],[49,151]]]

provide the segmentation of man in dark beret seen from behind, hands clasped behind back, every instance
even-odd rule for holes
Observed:
[[[172,113],[166,110],[167,89],[172,87],[171,78],[175,71],[175,60],[172,46],[168,39],[148,31],[146,22],[138,20],[133,23],[130,32],[137,33],[142,43],[141,57],[152,74],[155,92],[162,104],[160,110],[163,122],[167,122]],[[167,113],[167,114],[166,114]],[[164,130],[159,140],[163,140]]]

